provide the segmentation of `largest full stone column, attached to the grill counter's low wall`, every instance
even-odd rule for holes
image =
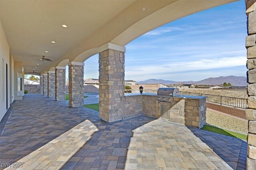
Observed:
[[[119,50],[108,48],[99,53],[100,119],[107,122],[123,118],[125,47],[116,46]]]

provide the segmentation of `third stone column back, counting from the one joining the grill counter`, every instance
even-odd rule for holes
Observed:
[[[63,101],[66,97],[66,67],[55,67],[55,100]]]

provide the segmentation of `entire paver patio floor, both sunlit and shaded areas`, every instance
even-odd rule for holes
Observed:
[[[150,117],[107,123],[96,111],[69,108],[65,101],[35,94],[26,94],[9,112],[0,136],[2,165],[223,170],[244,169],[246,164],[247,144],[242,140]]]

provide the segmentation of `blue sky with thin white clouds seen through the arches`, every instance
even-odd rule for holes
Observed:
[[[246,76],[246,35],[244,0],[186,16],[126,45],[125,79]],[[84,63],[84,78],[98,78],[98,54]]]

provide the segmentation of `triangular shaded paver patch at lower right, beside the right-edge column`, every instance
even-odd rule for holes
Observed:
[[[247,142],[223,134],[188,128],[234,170],[246,169]]]

